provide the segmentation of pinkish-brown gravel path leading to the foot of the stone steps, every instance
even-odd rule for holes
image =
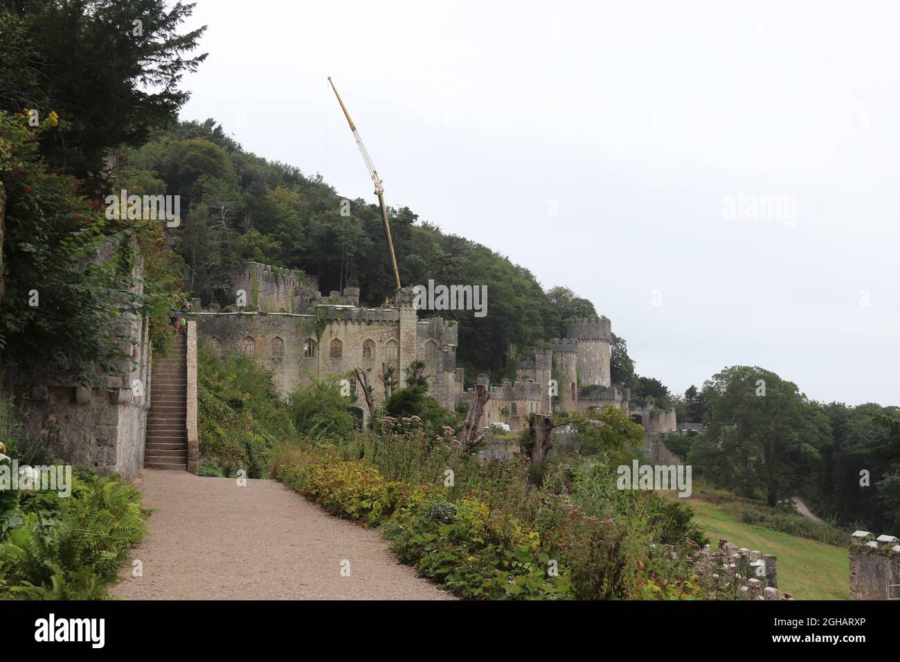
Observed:
[[[273,480],[146,469],[154,512],[112,594],[132,600],[452,600],[401,566],[377,531],[332,517]],[[350,576],[341,575],[349,562]],[[347,567],[347,563],[344,563]]]

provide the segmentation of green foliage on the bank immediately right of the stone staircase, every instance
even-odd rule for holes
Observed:
[[[197,358],[201,458],[228,476],[237,469],[251,478],[264,476],[276,441],[297,435],[272,376],[252,357],[221,349],[208,338],[198,343]]]

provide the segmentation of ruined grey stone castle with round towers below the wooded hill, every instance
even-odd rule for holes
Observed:
[[[411,288],[399,290],[393,304],[365,308],[356,287],[323,296],[314,277],[256,262],[235,275],[234,288],[238,304],[222,310],[200,310],[194,300],[198,331],[253,356],[272,373],[283,396],[313,379],[347,379],[350,393],[359,395],[355,413],[365,422],[355,369],[366,372],[377,406],[386,397],[379,378],[384,367],[394,367],[403,385],[404,369],[417,359],[425,363],[428,394],[442,406],[454,409],[474,396],[473,389],[464,390],[463,369],[456,367],[455,322],[419,320]],[[637,408],[629,389],[611,385],[611,341],[608,318],[573,322],[566,338],[517,362],[515,382],[489,385],[482,421],[505,422],[518,431],[529,413],[586,413],[611,405],[628,411],[648,432],[675,430],[674,412]]]

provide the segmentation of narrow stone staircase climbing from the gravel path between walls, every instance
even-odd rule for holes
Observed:
[[[168,356],[153,358],[144,467],[187,470],[187,339],[177,334]]]

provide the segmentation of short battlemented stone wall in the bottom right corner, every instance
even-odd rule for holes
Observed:
[[[851,600],[900,600],[900,539],[855,531],[850,547]]]

